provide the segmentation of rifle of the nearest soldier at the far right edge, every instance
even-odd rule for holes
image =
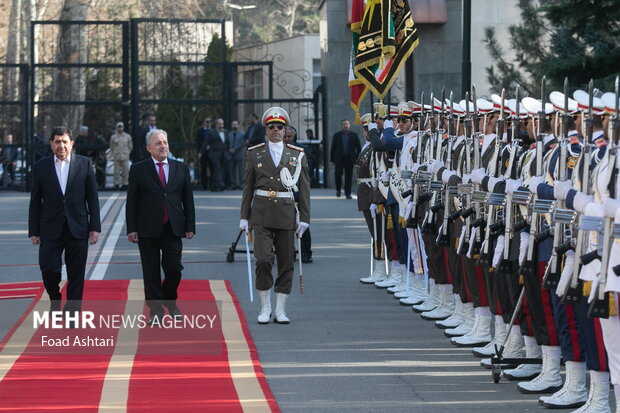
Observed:
[[[616,190],[616,179],[618,176],[618,161],[620,158],[618,157],[618,146],[619,146],[619,127],[620,127],[620,108],[618,107],[618,98],[620,98],[620,77],[616,77],[616,96],[614,101],[614,116],[612,118],[612,141],[613,145],[610,145],[611,149],[609,151],[609,163],[607,165],[607,180],[605,182],[612,182],[610,185],[611,190],[609,193],[610,197],[617,197],[618,194],[614,193]],[[605,292],[605,285],[607,284],[607,267],[609,266],[609,256],[611,254],[611,243],[612,243],[612,222],[611,218],[604,218],[604,229],[603,229],[603,253],[601,258],[601,268],[599,271],[599,275],[597,280],[592,283],[592,292],[590,297],[594,299],[590,303],[590,307],[588,308],[588,316],[590,317],[599,317],[599,318],[609,318],[609,293]],[[616,231],[614,231],[613,235],[619,235],[620,231],[618,228],[614,227]],[[615,272],[616,269],[614,268]]]

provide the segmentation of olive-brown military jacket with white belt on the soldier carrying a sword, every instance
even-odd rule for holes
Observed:
[[[280,179],[282,168],[288,168],[294,175],[303,149],[293,145],[284,145],[280,163],[275,165],[266,143],[248,149],[245,161],[245,183],[241,199],[241,219],[247,219],[252,225],[266,228],[294,230],[295,200],[255,195],[257,189],[287,192]],[[297,181],[299,189],[299,220],[310,223],[310,178],[306,156],[301,159],[301,174]]]

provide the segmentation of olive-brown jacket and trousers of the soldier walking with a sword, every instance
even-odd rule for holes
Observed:
[[[303,149],[284,145],[282,158],[276,166],[269,152],[269,143],[248,149],[245,162],[245,183],[241,201],[241,219],[247,219],[254,231],[256,257],[256,288],[269,290],[273,285],[271,267],[278,260],[275,292],[290,294],[295,258],[296,209],[292,197],[277,197],[287,192],[280,179],[280,170],[288,168],[294,175]],[[310,223],[310,178],[306,157],[301,159],[299,189],[299,221]],[[269,191],[271,196],[258,195],[256,190]],[[275,255],[274,255],[275,247]]]

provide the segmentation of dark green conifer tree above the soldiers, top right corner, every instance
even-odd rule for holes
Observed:
[[[509,27],[513,60],[505,57],[493,28],[486,46],[493,66],[487,78],[495,91],[520,84],[537,96],[540,79],[561,90],[568,77],[573,88],[612,90],[620,71],[620,8],[616,0],[519,0],[522,22]]]

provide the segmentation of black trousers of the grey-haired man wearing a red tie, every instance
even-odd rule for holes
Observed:
[[[170,310],[176,308],[177,288],[181,283],[183,270],[183,241],[174,235],[168,221],[159,237],[140,237],[138,247],[142,262],[144,298],[151,310],[151,316],[161,316],[164,304]],[[161,269],[164,270],[163,282]]]

